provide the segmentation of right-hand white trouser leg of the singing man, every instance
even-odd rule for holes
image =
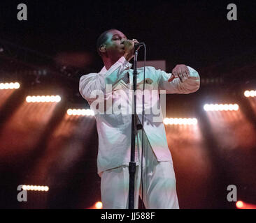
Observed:
[[[139,137],[141,139],[141,134]],[[179,208],[172,162],[158,162],[145,134],[143,141],[143,162],[145,164],[143,164],[143,203],[145,208]],[[140,195],[142,195],[141,192]]]

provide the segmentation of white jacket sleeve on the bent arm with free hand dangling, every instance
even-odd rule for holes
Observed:
[[[156,70],[158,77],[159,90],[166,90],[166,93],[193,93],[199,89],[200,77],[199,73],[187,66],[190,71],[188,79],[184,82],[180,82],[179,78],[173,79],[172,82],[168,82],[171,77],[171,73],[166,73],[163,70]]]

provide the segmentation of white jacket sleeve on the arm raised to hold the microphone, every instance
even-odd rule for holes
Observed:
[[[125,60],[124,56],[122,56],[104,75],[97,73],[83,75],[80,77],[79,82],[80,94],[87,100],[87,102],[89,102],[89,104],[96,100],[95,95],[99,95],[99,93],[104,94],[104,100],[106,100],[109,95],[112,95],[111,90],[114,89],[115,84],[123,78],[124,71],[130,67],[131,64]],[[106,88],[107,84],[108,88]],[[110,89],[110,91],[108,91],[108,89]]]

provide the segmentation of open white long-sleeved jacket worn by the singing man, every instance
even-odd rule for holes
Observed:
[[[145,116],[144,132],[158,161],[171,161],[171,153],[166,140],[163,114],[159,106],[165,101],[159,100],[160,91],[165,93],[192,93],[199,89],[200,77],[196,70],[190,70],[189,78],[184,82],[173,79],[168,82],[171,73],[145,67]],[[79,90],[83,98],[94,110],[99,135],[97,157],[98,174],[102,171],[128,165],[131,148],[131,96],[133,70],[131,63],[122,56],[109,70],[102,68],[99,73],[90,73],[80,77]],[[136,109],[142,123],[143,68],[138,68]],[[131,84],[129,84],[131,83]],[[164,95],[161,93],[161,95]],[[165,97],[161,97],[165,98]],[[99,112],[100,111],[100,112]],[[135,161],[138,164],[136,151]]]

